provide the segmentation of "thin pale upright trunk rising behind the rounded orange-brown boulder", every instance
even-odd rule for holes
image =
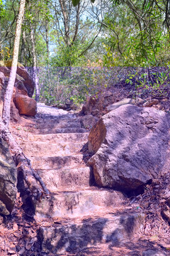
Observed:
[[[38,68],[37,68],[37,58],[35,53],[35,37],[33,26],[30,21],[30,41],[32,44],[32,54],[33,54],[33,78],[35,82],[35,100],[38,102],[40,97],[40,89],[39,89],[39,79],[38,79]]]

